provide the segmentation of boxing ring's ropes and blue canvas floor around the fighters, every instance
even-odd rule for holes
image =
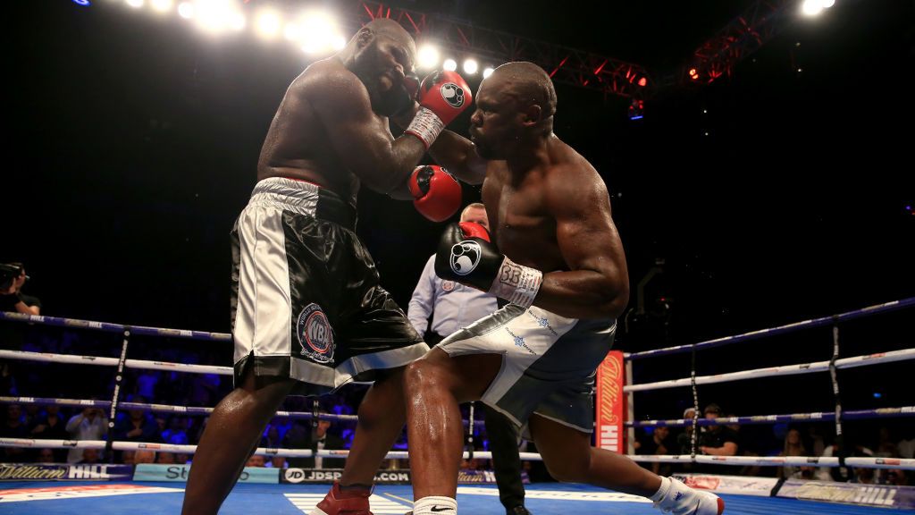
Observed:
[[[663,349],[624,355],[627,384],[623,389],[628,397],[629,416],[625,426],[629,428],[630,457],[640,463],[679,463],[700,464],[707,466],[817,466],[817,467],[857,467],[872,469],[915,470],[915,459],[880,458],[880,457],[846,457],[841,454],[834,457],[822,456],[712,456],[696,453],[696,439],[691,440],[689,455],[633,455],[632,443],[634,431],[638,427],[691,427],[692,434],[700,428],[713,423],[724,424],[759,424],[775,422],[834,422],[837,438],[842,437],[843,422],[850,420],[879,419],[890,417],[915,416],[915,406],[894,408],[844,411],[841,404],[840,384],[836,372],[853,367],[877,366],[885,363],[915,359],[915,347],[901,350],[879,352],[867,356],[840,358],[839,323],[856,318],[884,312],[894,312],[915,307],[915,298],[893,301],[876,306],[869,306],[853,312],[791,323],[788,325],[718,338],[694,345],[678,345]],[[113,441],[113,424],[118,412],[123,410],[145,410],[159,413],[206,416],[212,408],[175,406],[156,403],[137,403],[121,401],[121,389],[124,386],[124,371],[164,370],[187,374],[218,374],[231,376],[231,367],[210,365],[191,365],[165,361],[153,361],[128,358],[131,339],[135,335],[181,338],[194,341],[209,341],[227,344],[231,342],[230,334],[205,333],[199,331],[175,330],[145,326],[131,326],[117,323],[90,322],[57,318],[49,316],[24,315],[19,313],[0,312],[0,323],[31,323],[36,325],[59,326],[68,329],[100,331],[122,334],[120,356],[80,356],[40,352],[28,352],[13,349],[0,349],[2,360],[23,360],[28,362],[45,362],[83,367],[115,368],[114,389],[111,400],[85,399],[52,399],[38,397],[0,397],[3,404],[57,405],[61,407],[99,408],[108,413],[109,428],[107,440],[46,440],[0,438],[0,447],[26,448],[93,448],[104,449],[108,456],[112,451],[153,450],[163,453],[191,455],[196,445],[157,444],[142,442]],[[736,372],[727,372],[711,376],[699,376],[696,371],[695,355],[698,351],[714,349],[725,345],[743,344],[763,337],[787,334],[812,327],[832,326],[833,352],[828,360],[788,364],[779,367],[765,367]],[[2,344],[2,343],[0,343]],[[677,378],[650,383],[635,383],[632,377],[633,363],[658,356],[690,354],[689,377]],[[832,378],[834,406],[832,412],[806,412],[774,415],[722,417],[716,421],[707,421],[698,417],[699,396],[697,387],[741,381],[749,378],[781,378],[786,376],[826,373]],[[635,396],[638,392],[658,389],[692,389],[694,418],[689,420],[635,420]],[[315,411],[277,411],[278,418],[313,420],[324,418],[337,421],[355,421],[351,415],[318,414]],[[472,417],[471,417],[472,418]],[[471,423],[474,423],[472,420]],[[285,457],[339,457],[346,451],[308,449],[282,449],[260,447],[256,455]],[[473,457],[488,459],[488,452],[474,451]],[[388,458],[406,458],[403,451],[392,451]],[[465,457],[471,457],[465,452]],[[522,453],[522,460],[540,460],[534,453]],[[171,466],[175,477],[168,477],[168,466],[48,466],[45,464],[5,464],[0,465],[0,512],[18,514],[33,513],[42,510],[46,513],[79,513],[88,510],[100,515],[138,511],[143,513],[178,513],[183,499],[183,481],[186,480],[188,466]],[[396,471],[381,471],[383,481],[375,488],[371,498],[372,510],[376,514],[404,513],[411,509],[412,493],[408,485],[389,484],[408,482],[408,475]],[[63,476],[61,476],[63,475]],[[674,476],[678,476],[674,474]],[[303,475],[302,469],[245,469],[245,475],[232,491],[223,505],[221,513],[248,514],[252,512],[271,513],[307,513],[318,500],[324,497],[328,489],[328,479],[318,477],[318,482]],[[54,480],[48,480],[54,479]],[[791,481],[755,481],[748,477],[733,483],[722,481],[721,484],[710,484],[709,477],[690,477],[696,488],[716,489],[727,503],[727,514],[757,513],[848,513],[865,514],[886,512],[887,508],[915,508],[915,488],[858,485],[840,487],[840,484],[823,485],[822,488],[807,488],[808,485],[791,485]],[[730,486],[728,486],[730,485]],[[633,496],[627,496],[599,488],[582,485],[562,485],[540,483],[526,488],[526,506],[538,515],[565,514],[569,510],[585,512],[613,512],[620,514],[656,513],[651,509],[651,502]],[[891,490],[891,491],[890,491]],[[784,492],[787,491],[787,494]],[[760,493],[761,492],[761,493]],[[778,493],[778,497],[776,494]],[[784,495],[783,495],[784,494]],[[823,500],[841,500],[843,503],[823,502]],[[854,503],[854,504],[852,504]],[[503,513],[498,501],[498,491],[494,485],[459,486],[458,505],[465,513],[487,514]]]

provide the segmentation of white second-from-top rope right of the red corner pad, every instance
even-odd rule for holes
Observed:
[[[836,360],[837,368],[855,368],[866,367],[869,365],[879,365],[882,363],[892,363],[915,359],[915,348],[895,350],[890,352],[881,352],[867,356],[845,357]],[[756,368],[754,370],[742,370],[739,372],[729,372],[727,374],[716,374],[714,376],[700,376],[695,378],[695,384],[708,385],[714,383],[724,383],[727,381],[738,381],[742,379],[770,378],[774,376],[794,376],[798,374],[810,374],[813,372],[829,371],[828,361],[818,361],[815,363],[802,363],[800,365],[785,365],[782,367]],[[665,389],[676,387],[690,386],[691,378],[671,379],[667,381],[657,381],[653,383],[641,383],[623,387],[623,391],[643,391],[646,389]]]

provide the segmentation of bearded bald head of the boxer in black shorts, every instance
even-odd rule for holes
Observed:
[[[404,74],[413,72],[416,43],[396,21],[378,18],[367,23],[339,58],[365,84],[376,113],[393,115],[412,98],[404,89]]]

